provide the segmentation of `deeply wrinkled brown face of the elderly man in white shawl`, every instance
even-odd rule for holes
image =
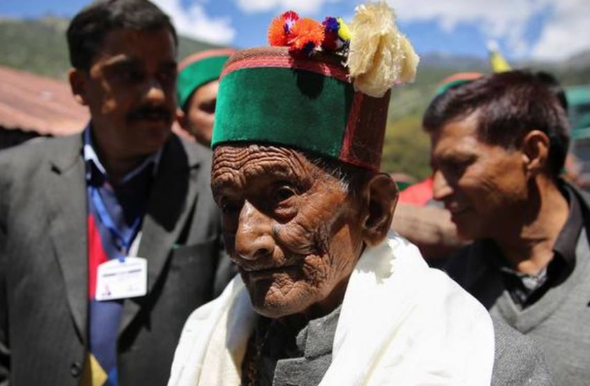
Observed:
[[[289,148],[219,146],[211,186],[225,247],[259,313],[339,304],[363,243],[360,203],[335,177]]]

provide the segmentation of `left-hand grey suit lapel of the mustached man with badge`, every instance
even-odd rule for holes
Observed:
[[[86,342],[88,249],[82,136],[66,137],[61,141],[61,147],[53,153],[52,168],[45,186],[49,233],[66,283],[75,326],[82,341]]]

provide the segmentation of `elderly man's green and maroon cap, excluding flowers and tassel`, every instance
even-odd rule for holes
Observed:
[[[347,70],[330,59],[293,58],[284,47],[240,51],[221,77],[212,146],[283,144],[378,167],[390,93],[356,93]]]

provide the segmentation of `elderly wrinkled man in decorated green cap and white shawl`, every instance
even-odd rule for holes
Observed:
[[[212,190],[241,275],[187,320],[169,385],[490,385],[488,313],[389,232],[397,190],[378,167],[391,84],[348,76],[362,20],[375,30],[371,10],[390,12],[359,8],[347,58],[304,41],[308,51],[252,48],[225,65]],[[297,30],[294,12],[282,18],[277,30]],[[392,26],[382,39],[405,46],[389,52],[400,58],[392,66],[411,66],[414,52],[388,35]],[[548,385],[539,364],[515,360],[524,381]]]

